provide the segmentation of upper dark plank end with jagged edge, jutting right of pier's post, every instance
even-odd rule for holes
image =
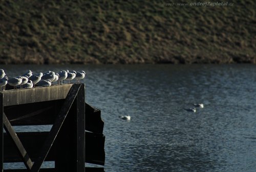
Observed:
[[[86,103],[86,130],[103,133],[104,121],[101,119],[100,110]]]

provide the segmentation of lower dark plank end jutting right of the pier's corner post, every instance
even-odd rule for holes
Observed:
[[[105,136],[103,134],[86,132],[86,162],[104,165],[104,143]]]

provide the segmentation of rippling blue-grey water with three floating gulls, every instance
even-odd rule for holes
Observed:
[[[255,65],[0,67],[10,76],[86,71],[86,101],[105,122],[105,171],[256,169]],[[184,110],[194,103],[205,107]]]

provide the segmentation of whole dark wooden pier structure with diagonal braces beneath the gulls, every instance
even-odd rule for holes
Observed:
[[[0,91],[0,170],[104,171],[104,122],[100,110],[85,103],[84,84]],[[13,126],[52,125],[50,131],[15,132]],[[6,132],[4,132],[4,129]],[[54,168],[41,168],[54,161]],[[4,169],[24,162],[27,169]]]

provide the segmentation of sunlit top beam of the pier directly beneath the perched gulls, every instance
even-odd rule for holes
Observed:
[[[5,90],[0,92],[3,93],[3,106],[11,106],[65,99],[72,85],[74,84]]]

